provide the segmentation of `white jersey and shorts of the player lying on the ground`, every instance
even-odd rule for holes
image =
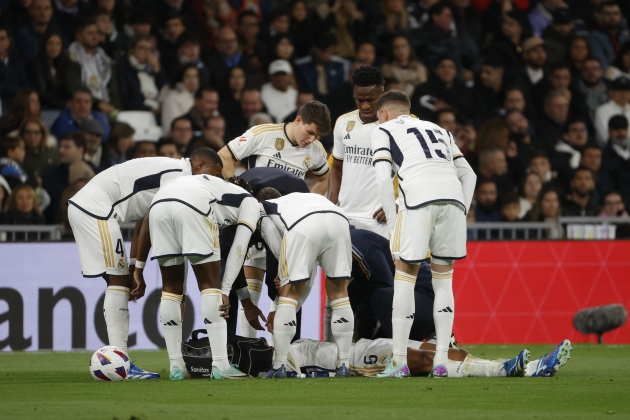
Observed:
[[[420,341],[409,340],[407,346],[419,349]],[[350,373],[354,376],[376,376],[385,370],[387,359],[392,357],[392,340],[379,338],[361,340],[350,347]],[[310,369],[336,370],[337,345],[316,340],[301,339],[291,343],[288,369],[298,372]]]

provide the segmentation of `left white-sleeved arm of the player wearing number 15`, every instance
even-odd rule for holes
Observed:
[[[392,155],[389,150],[389,135],[382,128],[372,132],[372,150],[374,150],[372,164],[376,171],[376,185],[391,234],[396,224],[396,196],[392,182],[393,170]]]

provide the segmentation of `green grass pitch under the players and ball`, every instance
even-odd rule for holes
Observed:
[[[518,346],[468,346],[507,358]],[[529,346],[538,357],[551,346]],[[134,351],[168,377],[165,351]],[[90,353],[0,353],[0,419],[629,418],[630,347],[574,345],[555,378],[96,382]]]

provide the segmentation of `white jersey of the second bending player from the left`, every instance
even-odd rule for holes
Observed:
[[[169,183],[153,197],[151,207],[177,201],[199,214],[209,216],[223,229],[244,225],[252,232],[260,217],[258,201],[241,187],[209,175],[181,177]]]

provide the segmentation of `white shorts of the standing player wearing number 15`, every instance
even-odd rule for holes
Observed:
[[[431,257],[459,260],[466,257],[466,215],[456,204],[430,204],[418,209],[401,209],[390,239],[394,257],[408,264],[420,264]]]

